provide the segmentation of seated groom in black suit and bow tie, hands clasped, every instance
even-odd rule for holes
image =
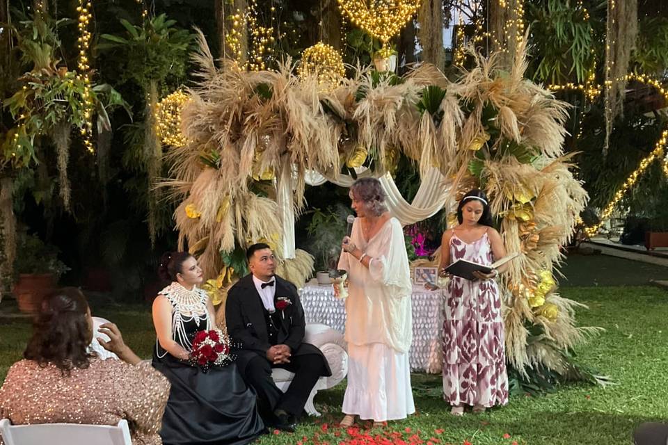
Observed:
[[[331,371],[321,351],[303,343],[304,311],[297,289],[274,275],[276,258],[269,245],[251,245],[246,258],[250,274],[230,288],[225,302],[228,333],[241,343],[237,367],[257,392],[264,422],[294,431],[318,378]],[[285,394],[271,379],[272,368],[295,374]]]

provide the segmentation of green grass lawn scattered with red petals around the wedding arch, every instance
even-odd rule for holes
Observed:
[[[581,268],[569,266],[582,273]],[[596,284],[605,283],[609,273],[614,270],[605,270]],[[582,277],[591,278],[587,274]],[[440,398],[440,375],[413,374],[417,414],[406,421],[390,422],[385,430],[372,434],[385,435],[395,444],[401,437],[406,444],[424,445],[465,441],[473,445],[611,445],[630,444],[633,428],[643,421],[668,419],[668,292],[651,286],[598,285],[564,286],[562,294],[589,305],[589,310],[578,313],[580,325],[605,328],[599,337],[578,347],[577,353],[580,362],[610,375],[616,385],[565,385],[546,396],[511,396],[509,405],[485,414],[454,417]],[[0,309],[6,305],[0,303]],[[95,302],[92,305],[95,308]],[[96,308],[94,314],[115,321],[127,343],[139,355],[150,356],[154,334],[148,307],[107,304]],[[0,380],[8,366],[21,357],[29,332],[25,319],[0,318]],[[320,392],[316,405],[323,417],[308,419],[292,435],[265,436],[260,445],[306,445],[304,441],[313,445],[370,445],[356,442],[359,432],[335,428],[343,392],[344,385]]]

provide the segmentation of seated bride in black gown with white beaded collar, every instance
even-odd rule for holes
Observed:
[[[189,363],[196,332],[216,328],[214,306],[198,289],[202,269],[188,252],[163,255],[159,274],[172,282],[153,302],[157,341],[153,366],[172,384],[160,435],[165,444],[244,445],[265,429],[255,392],[237,366],[207,372]]]

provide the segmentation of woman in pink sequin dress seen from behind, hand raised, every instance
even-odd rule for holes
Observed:
[[[123,343],[116,325],[106,323],[100,332],[110,340],[98,341],[120,360],[86,351],[93,320],[79,289],[66,287],[45,297],[25,359],[12,365],[0,388],[0,418],[16,425],[116,425],[127,419],[134,445],[161,444],[169,382]]]

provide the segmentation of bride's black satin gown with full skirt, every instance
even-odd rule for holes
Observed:
[[[183,323],[190,341],[207,325],[205,316],[199,326],[194,319]],[[204,373],[157,344],[153,366],[172,385],[160,430],[164,445],[244,445],[264,432],[255,392],[234,362]]]

